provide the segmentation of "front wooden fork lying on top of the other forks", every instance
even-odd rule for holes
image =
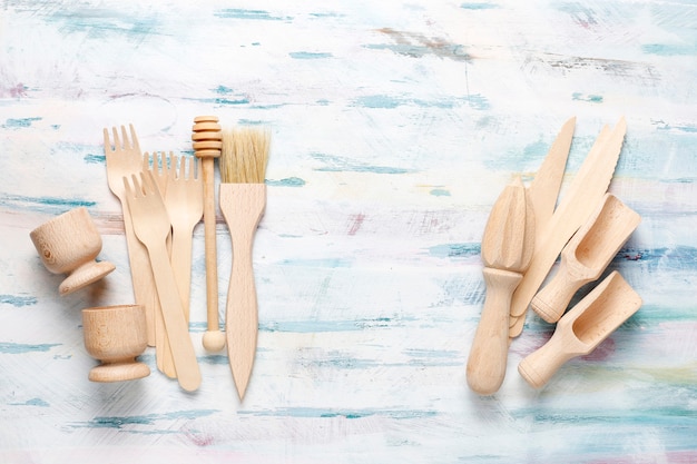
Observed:
[[[170,230],[165,203],[157,189],[153,172],[131,175],[132,187],[122,178],[136,236],[150,256],[155,286],[163,306],[163,318],[171,349],[177,381],[181,388],[193,392],[200,386],[200,369],[188,334],[188,324],[179,298],[174,270],[167,256],[166,239]]]

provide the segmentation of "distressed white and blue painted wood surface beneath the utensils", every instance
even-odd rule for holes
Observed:
[[[696,462],[696,108],[686,0],[0,3],[0,462]],[[153,348],[149,377],[90,383],[80,310],[132,302],[101,129],[192,155],[206,113],[273,132],[246,397],[200,346],[203,225],[200,389]],[[622,115],[610,190],[642,223],[610,269],[644,306],[539,392],[516,366],[553,327],[530,313],[499,393],[472,394],[493,201],[577,116],[567,186]],[[29,231],[77,206],[117,269],[61,298]]]

